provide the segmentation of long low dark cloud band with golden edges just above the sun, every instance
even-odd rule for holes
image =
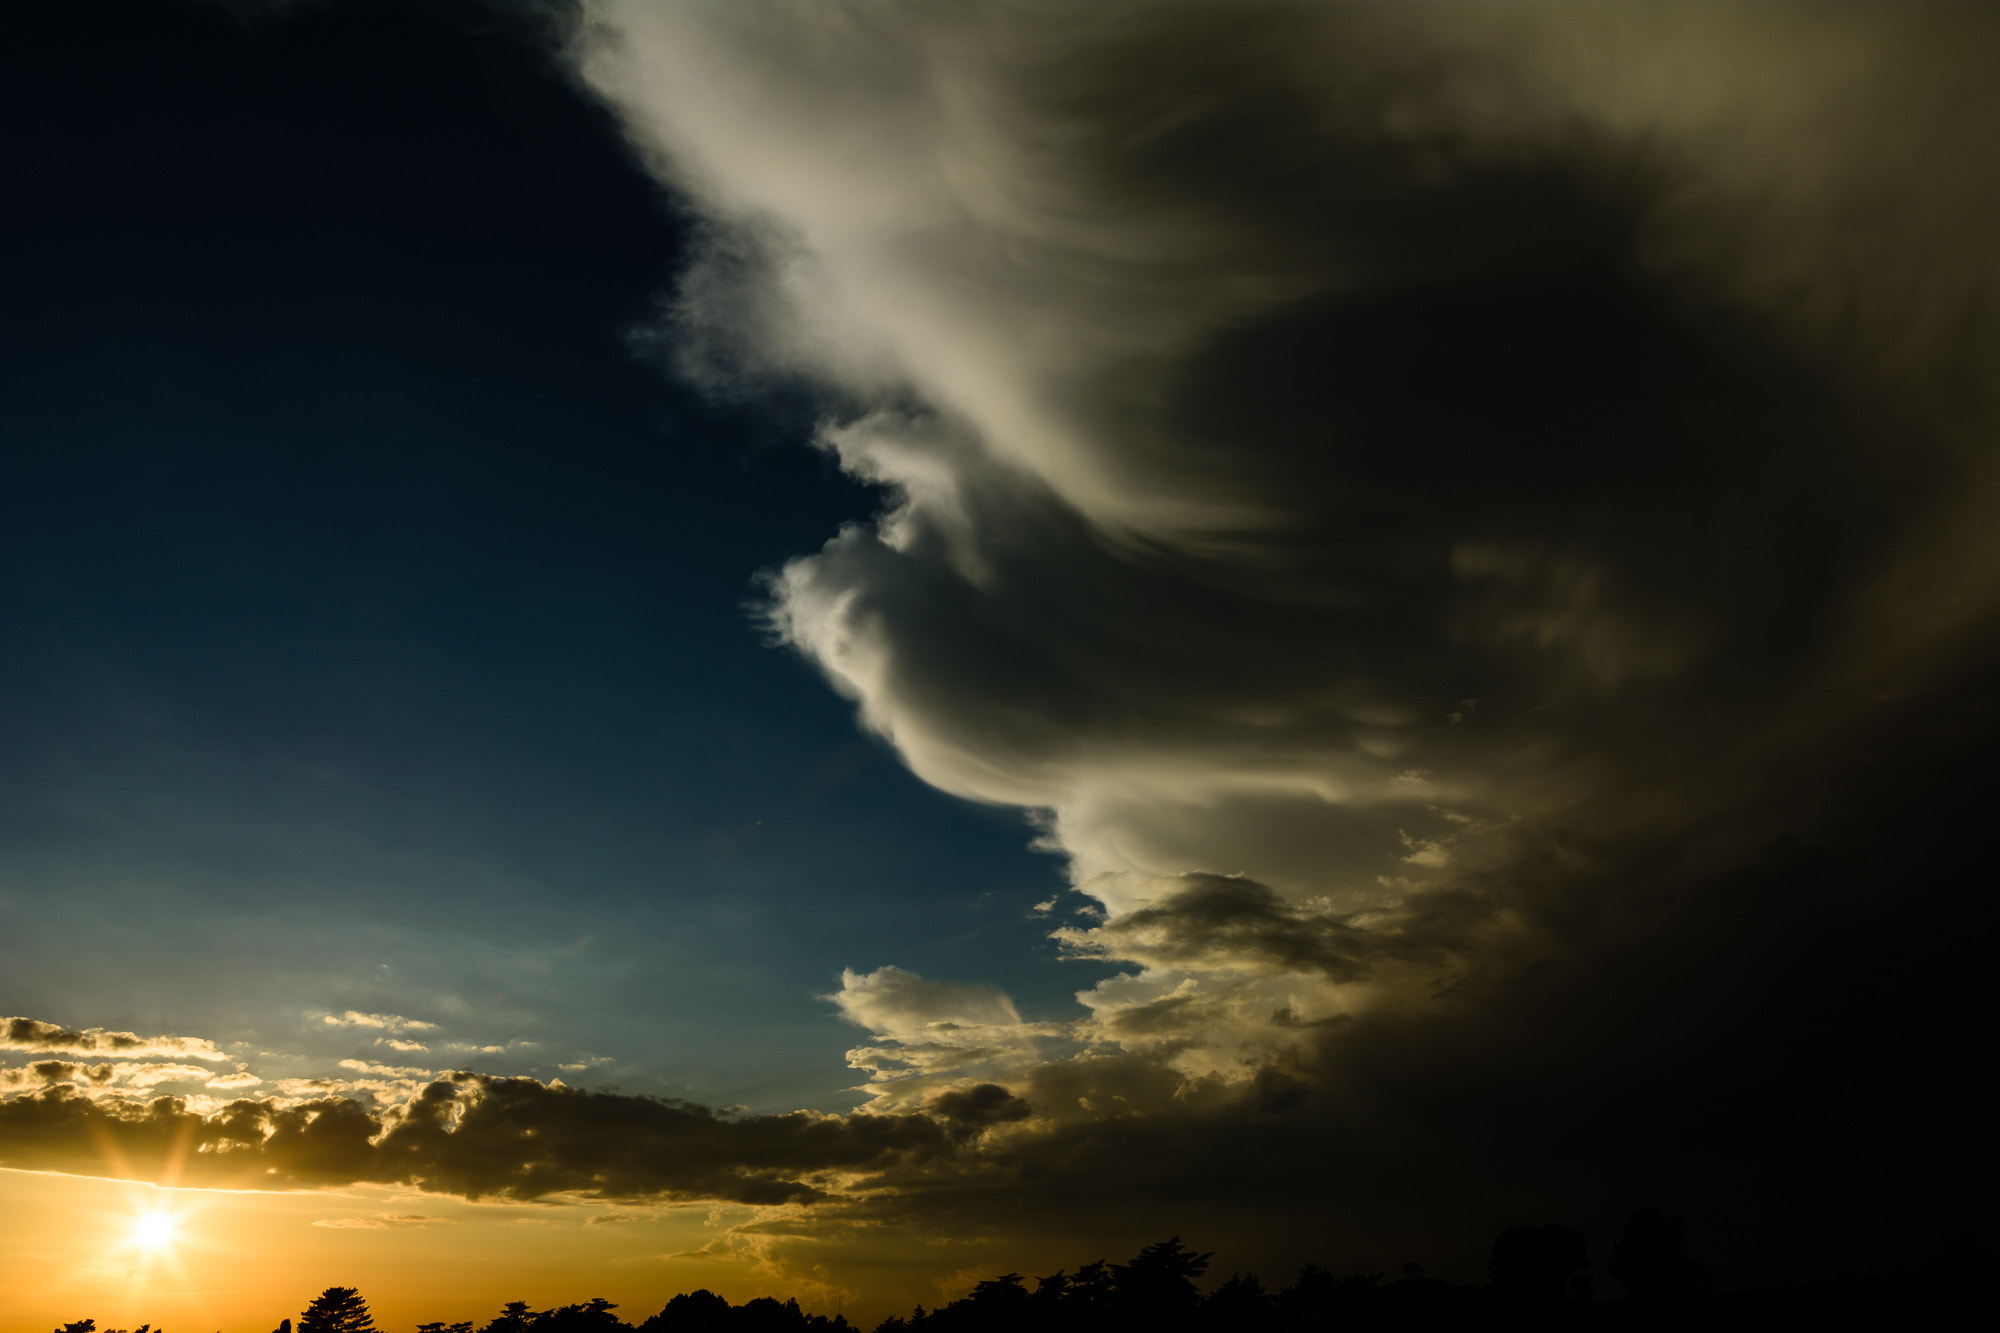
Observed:
[[[466,1199],[816,1203],[950,1151],[924,1115],[724,1117],[652,1097],[458,1073],[398,1107],[350,1097],[200,1105],[60,1081],[0,1101],[0,1165],[186,1185],[406,1185]]]

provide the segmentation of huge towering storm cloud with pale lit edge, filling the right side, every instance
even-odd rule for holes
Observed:
[[[1990,1009],[2000,14],[588,12],[706,220],[682,370],[814,386],[886,496],[774,628],[1134,969],[1066,1025],[850,973],[880,1107],[1028,1113],[816,1217],[1950,1175],[1898,1153]]]

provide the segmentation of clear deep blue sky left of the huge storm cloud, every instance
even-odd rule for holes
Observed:
[[[1060,865],[762,628],[880,498],[648,354],[686,220],[608,116],[448,26],[156,22],[50,52],[6,222],[8,1011],[788,1109],[856,1101],[842,967],[1074,1009]]]

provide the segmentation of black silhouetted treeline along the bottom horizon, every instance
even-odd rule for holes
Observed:
[[[1000,1273],[958,1301],[890,1315],[874,1333],[1370,1333],[1374,1329],[1902,1329],[1984,1325],[1994,1305],[1992,1259],[1966,1237],[1918,1269],[1876,1277],[1840,1273],[1786,1287],[1714,1293],[1708,1273],[1686,1253],[1680,1219],[1642,1209],[1612,1245],[1606,1269],[1622,1295],[1594,1291],[1584,1233],[1556,1223],[1502,1231],[1488,1251],[1486,1283],[1344,1273],[1308,1263],[1280,1289],[1254,1273],[1232,1273],[1202,1289],[1212,1255],[1180,1237],[1148,1245],[1126,1263],[1102,1259],[1030,1281]],[[486,1323],[420,1323],[416,1333],[860,1333],[844,1315],[808,1315],[798,1301],[758,1297],[730,1305],[712,1291],[676,1295],[660,1313],[630,1325],[596,1297],[580,1305],[530,1309],[506,1303]],[[56,1333],[96,1333],[80,1319]],[[106,1329],[106,1333],[126,1333]],[[164,1333],[140,1325],[130,1333]],[[274,1333],[380,1333],[354,1287],[328,1287]]]

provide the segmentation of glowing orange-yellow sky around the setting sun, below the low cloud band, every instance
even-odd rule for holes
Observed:
[[[592,1223],[590,1219],[600,1219]],[[638,1323],[678,1291],[808,1293],[742,1257],[692,1257],[748,1209],[466,1203],[394,1189],[254,1193],[0,1169],[0,1333],[76,1319],[270,1333],[326,1287],[388,1331],[602,1295]],[[850,1315],[856,1313],[850,1309]]]

